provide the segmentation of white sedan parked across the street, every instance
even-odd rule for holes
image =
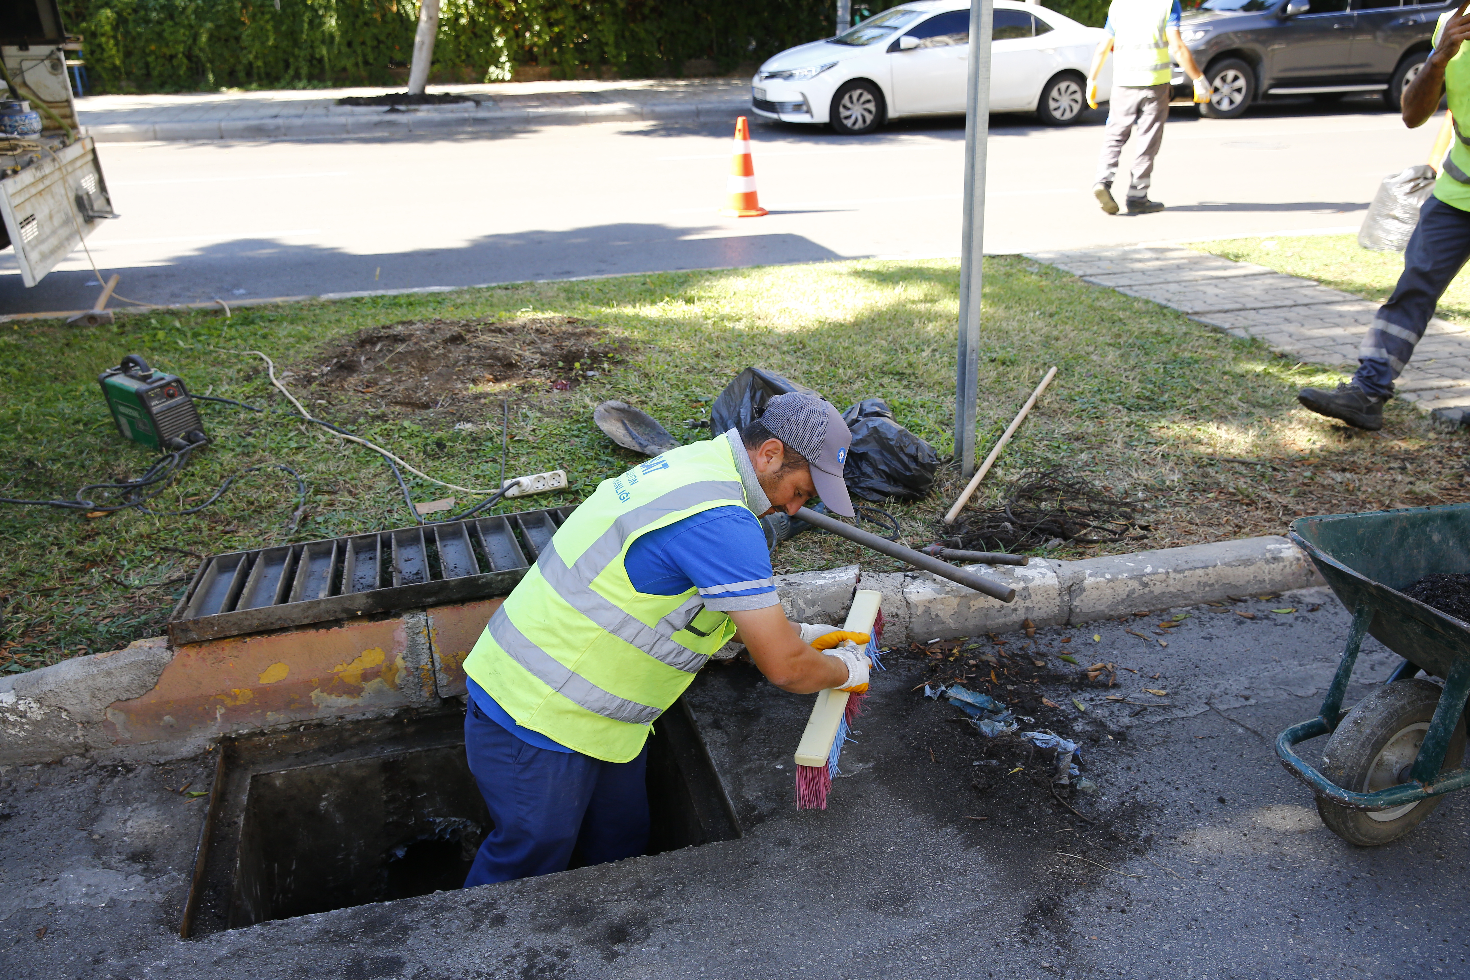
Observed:
[[[1055,10],[995,0],[991,110],[1035,112],[1064,126],[1086,107],[1092,50],[1105,35]],[[850,31],[776,54],[751,79],[751,110],[782,122],[831,123],[847,135],[889,119],[964,113],[970,57],[966,0],[906,3]],[[1100,90],[1111,87],[1113,59]]]

